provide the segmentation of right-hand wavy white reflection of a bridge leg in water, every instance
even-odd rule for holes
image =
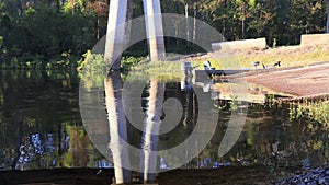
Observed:
[[[156,180],[156,174],[150,172],[155,172],[158,164],[157,144],[161,124],[163,99],[164,83],[159,83],[158,80],[151,79],[141,143],[141,148],[144,150],[141,152],[140,167],[144,171],[143,181],[145,183],[151,183]]]

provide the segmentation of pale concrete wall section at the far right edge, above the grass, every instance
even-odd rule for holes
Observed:
[[[302,35],[300,46],[321,46],[329,45],[329,34],[309,34]]]

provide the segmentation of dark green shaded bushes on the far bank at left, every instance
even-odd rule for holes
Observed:
[[[16,14],[11,5],[15,3],[0,2],[1,68],[76,67],[75,56],[97,42],[97,16],[87,7],[82,11],[78,5],[71,14],[55,3],[38,2],[24,4]]]

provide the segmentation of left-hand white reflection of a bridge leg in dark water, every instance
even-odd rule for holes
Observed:
[[[131,183],[131,172],[123,169],[123,166],[129,166],[131,161],[128,149],[122,143],[122,140],[127,140],[127,122],[123,108],[122,91],[118,91],[122,89],[120,73],[110,73],[104,88],[115,180],[117,184]]]

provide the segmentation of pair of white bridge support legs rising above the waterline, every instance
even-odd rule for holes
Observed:
[[[114,70],[120,69],[123,47],[129,43],[129,25],[125,23],[131,19],[127,13],[128,4],[132,3],[133,0],[114,0],[110,4],[104,59]],[[164,41],[160,0],[143,0],[143,3],[149,59],[151,61],[162,60],[164,58]]]

